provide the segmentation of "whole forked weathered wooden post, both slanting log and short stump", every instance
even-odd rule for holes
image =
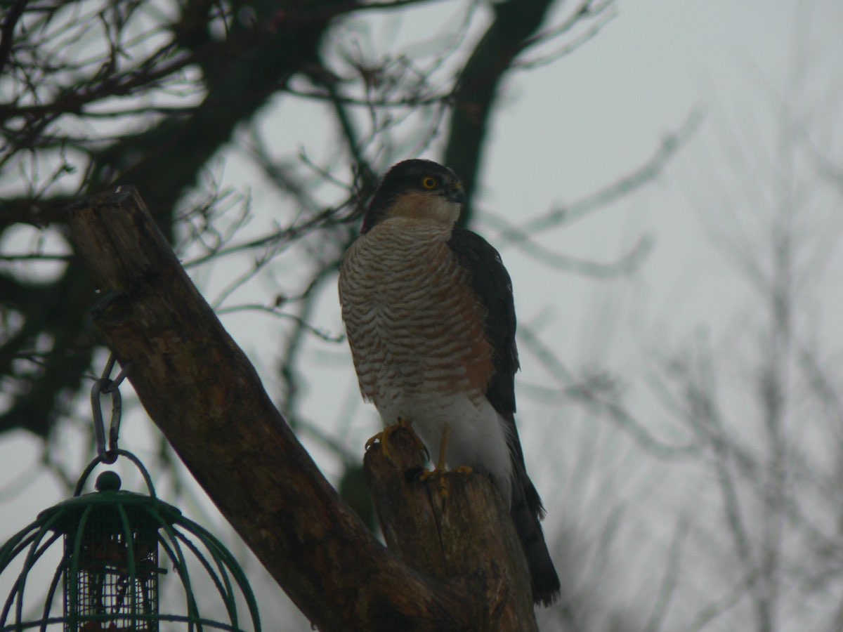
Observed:
[[[83,201],[67,220],[99,282],[94,322],[131,363],[149,416],[319,629],[535,629],[518,541],[488,480],[449,474],[445,496],[437,479],[408,481],[421,463],[407,465],[418,457],[394,433],[391,460],[379,447],[367,458],[395,553],[385,549],[271,404],[137,191]]]

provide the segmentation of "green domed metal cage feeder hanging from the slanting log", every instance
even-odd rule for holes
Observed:
[[[112,471],[99,474],[97,491],[81,494],[94,467],[99,463],[113,463],[117,456],[137,465],[146,481],[148,495],[121,490],[120,477]],[[40,570],[32,576],[30,571],[39,560],[49,557],[45,555],[48,551],[58,548],[59,539],[63,550],[46,597],[43,602],[40,598],[33,602],[27,597],[32,592],[30,584],[37,581],[43,585],[44,580],[38,578]],[[163,552],[162,560],[158,559],[159,552]],[[260,632],[255,597],[232,554],[211,533],[182,516],[175,506],[159,501],[147,470],[137,457],[125,450],[110,451],[95,458],[84,470],[72,498],[41,511],[35,522],[3,545],[0,578],[14,560],[21,558],[19,575],[0,610],[3,632],[58,630],[61,626],[66,632],[185,629]],[[189,564],[191,559],[198,564]],[[196,573],[199,568],[202,572]],[[159,612],[159,580],[170,570],[184,591],[185,606],[181,614]],[[168,603],[178,603],[169,598],[178,588],[172,585],[173,581],[165,583]],[[60,584],[63,611],[58,613],[56,607],[54,613]],[[208,590],[209,585],[215,590]],[[202,609],[195,590],[201,591]],[[218,615],[223,610],[217,606],[220,602],[227,621],[209,619],[203,614],[213,609]],[[247,613],[243,612],[243,604]]]

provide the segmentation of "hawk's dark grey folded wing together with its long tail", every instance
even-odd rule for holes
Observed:
[[[486,313],[486,339],[491,343],[495,366],[486,388],[486,399],[507,424],[507,443],[513,461],[510,513],[524,545],[533,580],[534,601],[548,605],[559,596],[560,583],[539,524],[545,516],[545,507],[527,475],[524,452],[515,427],[518,349],[515,345],[513,282],[503,267],[501,255],[480,235],[464,228],[454,228],[448,247],[469,273],[469,285]]]

